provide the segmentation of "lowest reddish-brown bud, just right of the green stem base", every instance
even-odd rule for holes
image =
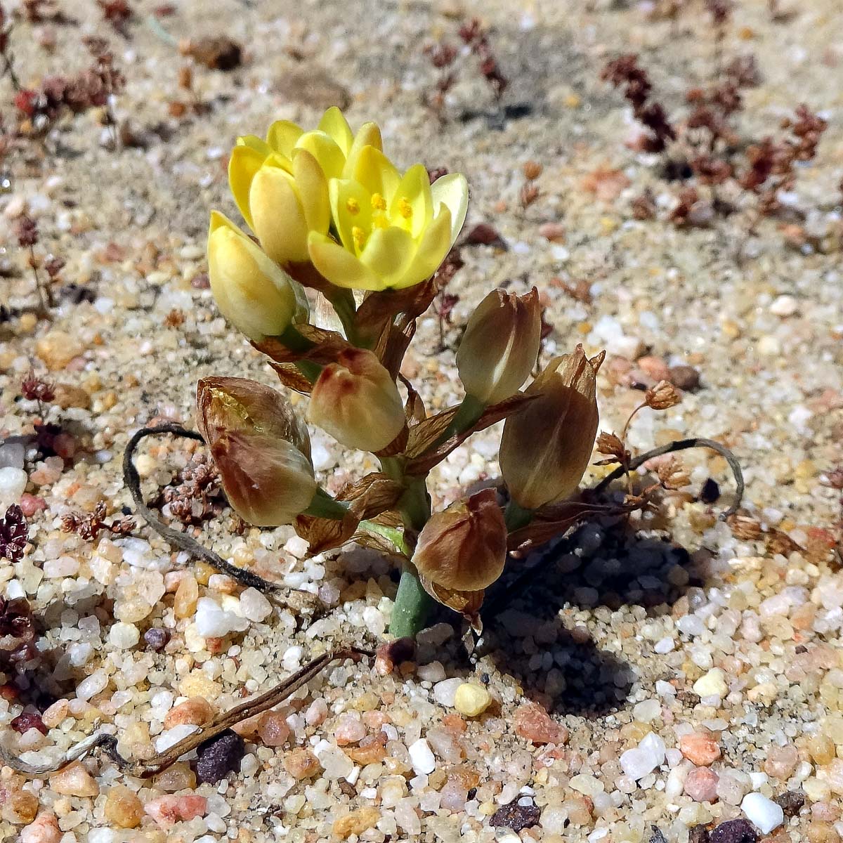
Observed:
[[[443,588],[479,591],[501,576],[507,527],[492,489],[433,513],[421,529],[413,563],[421,577]]]

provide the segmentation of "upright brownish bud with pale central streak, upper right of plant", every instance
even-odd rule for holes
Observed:
[[[492,290],[471,314],[457,351],[465,391],[484,404],[509,398],[529,377],[540,336],[535,287],[524,296]]]

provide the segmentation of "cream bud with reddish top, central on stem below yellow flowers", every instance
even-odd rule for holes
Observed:
[[[319,374],[310,394],[308,421],[347,448],[379,451],[404,428],[404,405],[378,357],[349,348]]]

